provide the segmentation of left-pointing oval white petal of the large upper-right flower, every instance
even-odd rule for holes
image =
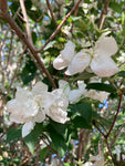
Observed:
[[[86,69],[86,66],[88,66],[90,60],[90,55],[87,55],[83,51],[76,53],[71,64],[69,65],[65,74],[73,75],[83,72]]]

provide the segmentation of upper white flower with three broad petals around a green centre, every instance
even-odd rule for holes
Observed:
[[[111,58],[116,52],[117,44],[115,39],[102,34],[93,49],[82,50],[75,54],[65,74],[73,75],[83,72],[90,65],[96,75],[101,77],[112,76],[118,72],[118,68]]]

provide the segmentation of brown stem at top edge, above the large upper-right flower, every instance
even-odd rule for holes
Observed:
[[[106,19],[108,3],[110,3],[110,0],[106,0],[104,8],[102,9],[101,17],[100,17],[98,24],[97,24],[98,29],[102,29],[103,23]]]

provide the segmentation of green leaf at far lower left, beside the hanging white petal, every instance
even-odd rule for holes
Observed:
[[[18,141],[18,138],[21,137],[21,127],[19,128],[11,128],[7,133],[7,139],[6,143],[10,143],[12,141]]]

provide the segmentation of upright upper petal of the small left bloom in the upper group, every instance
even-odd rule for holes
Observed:
[[[66,60],[67,62],[71,62],[74,54],[75,54],[75,45],[72,41],[69,41],[66,44],[65,44],[65,48],[64,50],[61,51],[61,55],[64,60]]]

